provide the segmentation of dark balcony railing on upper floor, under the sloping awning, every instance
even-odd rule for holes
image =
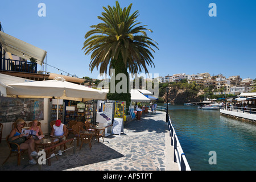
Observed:
[[[37,70],[37,63],[0,58],[0,71],[37,73]]]

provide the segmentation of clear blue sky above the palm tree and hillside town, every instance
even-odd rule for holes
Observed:
[[[208,7],[216,3],[217,16]],[[46,17],[39,17],[39,3],[46,4]],[[119,1],[121,7],[133,3],[138,21],[153,32],[154,76],[175,73],[209,72],[210,75],[256,78],[256,1],[249,0],[136,0]],[[47,51],[47,64],[78,77],[97,78],[89,71],[90,55],[84,55],[84,35],[100,23],[102,6],[115,0],[11,0],[1,1],[0,22],[5,33]],[[61,73],[47,66],[48,72]],[[67,73],[64,73],[67,75]]]

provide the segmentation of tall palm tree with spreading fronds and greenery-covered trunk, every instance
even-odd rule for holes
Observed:
[[[100,67],[100,73],[107,73],[109,69],[115,69],[115,75],[125,73],[127,80],[130,73],[139,73],[144,69],[148,73],[147,66],[154,66],[151,47],[156,47],[155,41],[148,38],[145,28],[141,22],[137,22],[138,11],[130,15],[132,4],[127,9],[121,9],[118,1],[116,7],[103,7],[105,10],[98,19],[102,23],[91,26],[92,30],[85,34],[84,49],[85,55],[91,54],[89,69],[92,72],[94,68]],[[156,43],[157,44],[157,43]],[[115,85],[117,81],[115,81]],[[127,84],[129,84],[127,82]],[[128,88],[128,87],[127,87]],[[130,93],[127,90],[127,93]],[[108,98],[118,100],[122,94],[108,94]],[[110,98],[111,97],[111,98]],[[117,97],[117,98],[115,98]],[[130,94],[124,96],[129,106]]]

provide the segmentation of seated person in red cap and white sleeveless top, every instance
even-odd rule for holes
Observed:
[[[60,142],[66,140],[65,135],[67,134],[67,128],[66,126],[61,123],[59,119],[56,120],[55,125],[52,127],[51,135],[54,135],[55,137],[60,139]],[[61,150],[63,149],[64,144],[60,145],[59,155],[62,155]]]

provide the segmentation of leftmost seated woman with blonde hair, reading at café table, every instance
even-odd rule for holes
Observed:
[[[27,150],[28,158],[30,158],[30,161],[28,163],[36,164],[36,161],[35,159],[33,159],[33,157],[38,156],[38,152],[35,151],[34,139],[28,138],[26,140],[26,138],[23,137],[24,134],[21,134],[23,125],[24,125],[23,119],[19,118],[16,120],[16,128],[11,130],[9,141],[19,144],[20,149]]]

